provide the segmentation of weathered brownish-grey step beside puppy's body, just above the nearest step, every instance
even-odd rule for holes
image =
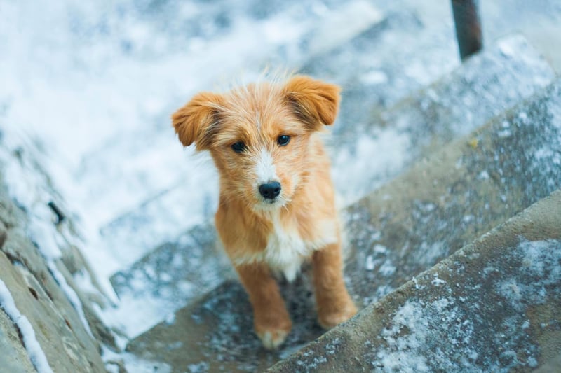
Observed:
[[[561,185],[561,81],[346,210],[351,293],[369,304]]]

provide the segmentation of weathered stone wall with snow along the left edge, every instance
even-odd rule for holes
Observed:
[[[25,156],[20,152],[17,157],[20,157],[22,167],[25,167],[27,160],[22,159]],[[11,161],[18,162],[19,160]],[[99,343],[102,338],[99,336],[100,331],[107,331],[107,329],[100,323],[97,314],[87,303],[86,297],[82,295],[80,301],[77,302],[81,303],[86,314],[88,314],[88,310],[91,312],[90,321],[97,321],[97,325],[92,323],[92,328],[85,325],[85,320],[79,313],[82,311],[81,307],[76,308],[76,300],[69,298],[69,291],[72,290],[65,288],[65,286],[74,285],[70,282],[72,276],[63,262],[63,258],[69,258],[71,255],[65,253],[64,247],[62,247],[67,232],[60,232],[61,251],[65,254],[58,258],[43,256],[44,253],[41,253],[36,244],[29,239],[28,232],[31,230],[29,225],[32,213],[16,205],[6,190],[5,166],[0,162],[3,171],[0,173],[0,238],[4,237],[4,242],[0,246],[0,280],[6,284],[15,302],[15,307],[32,325],[36,340],[43,349],[48,364],[55,372],[104,372]],[[36,164],[33,167],[36,167]],[[37,179],[41,180],[43,175],[39,174],[40,171],[36,172],[29,174],[29,178],[33,179],[34,176],[37,176]],[[43,185],[39,188],[45,190],[48,187]],[[28,192],[29,195],[26,197],[41,203],[42,198],[34,199],[37,196],[32,195],[36,190],[30,188]],[[44,201],[46,211],[48,211],[47,202],[48,200]],[[57,233],[54,221],[48,221],[47,215],[45,226],[49,224],[53,224],[52,231]],[[4,234],[2,234],[3,232]],[[48,243],[39,242],[37,244]],[[80,260],[80,258],[76,258],[74,262]],[[66,281],[63,281],[62,277],[58,277],[58,274],[66,276]],[[81,296],[77,288],[74,289],[74,295]],[[1,307],[0,304],[0,309]],[[0,313],[0,318],[3,318],[2,323],[8,325],[3,337],[0,337],[2,339],[0,344],[11,346],[9,348],[6,346],[3,351],[14,352],[9,356],[13,361],[6,356],[6,366],[15,363],[26,371],[34,371],[33,367],[29,370],[29,358],[22,340],[20,337],[13,338],[13,330],[16,330],[16,335],[20,332],[18,326],[7,318],[4,310]],[[94,325],[96,328],[93,328]],[[90,330],[93,335],[90,335]],[[3,365],[0,366],[4,369]]]

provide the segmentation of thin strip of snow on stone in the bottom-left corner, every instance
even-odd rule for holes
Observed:
[[[48,365],[48,360],[45,352],[35,337],[35,331],[27,317],[20,313],[18,307],[15,306],[13,297],[8,290],[4,281],[0,280],[0,307],[9,318],[17,325],[18,330],[22,335],[23,344],[29,354],[29,359],[33,363],[35,369],[39,373],[53,373],[53,370]]]

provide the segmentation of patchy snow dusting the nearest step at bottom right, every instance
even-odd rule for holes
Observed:
[[[518,268],[510,274],[505,267]],[[499,281],[496,281],[498,279]],[[539,349],[527,337],[532,325],[529,309],[559,297],[561,241],[520,242],[506,255],[489,260],[482,281],[494,287],[481,289],[480,279],[450,284],[438,278],[440,296],[407,300],[381,330],[383,343],[372,349],[377,372],[508,372],[537,366]],[[452,295],[458,289],[471,293]],[[459,290],[463,291],[463,290]],[[442,293],[441,293],[442,294]],[[485,297],[503,304],[503,314],[489,314]]]

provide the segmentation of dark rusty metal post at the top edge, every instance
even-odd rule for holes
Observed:
[[[478,0],[452,0],[456,37],[462,60],[478,52],[482,45]]]

